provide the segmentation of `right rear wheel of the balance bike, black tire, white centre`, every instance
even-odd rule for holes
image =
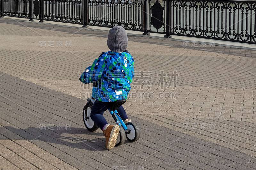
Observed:
[[[125,124],[129,130],[130,134],[126,135],[126,139],[130,142],[135,142],[140,139],[140,128],[135,122],[127,122]]]

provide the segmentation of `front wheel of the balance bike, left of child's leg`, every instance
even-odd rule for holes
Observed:
[[[93,131],[99,129],[99,127],[96,125],[96,123],[94,123],[92,121],[90,114],[89,114],[89,116],[87,115],[87,111],[91,110],[92,106],[93,106],[93,103],[91,102],[91,100],[89,100],[83,109],[84,125],[85,125],[86,129],[88,129],[90,132],[93,132]],[[88,117],[87,120],[85,120],[86,117]]]

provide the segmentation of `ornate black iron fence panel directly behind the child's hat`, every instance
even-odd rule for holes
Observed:
[[[89,24],[142,31],[142,6],[141,0],[90,0]]]

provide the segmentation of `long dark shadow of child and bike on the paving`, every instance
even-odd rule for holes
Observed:
[[[44,141],[48,144],[58,147],[62,144],[61,148],[77,148],[85,149],[88,151],[105,151],[105,141],[103,133],[98,130],[95,132],[90,132],[86,128],[67,128],[64,126],[53,127],[46,126],[41,128],[29,127],[27,129],[17,129],[14,127],[0,127],[0,131],[4,132],[6,129],[11,130],[17,135],[4,135],[11,140],[22,140],[26,139],[32,143],[36,141]],[[10,134],[7,133],[7,134]],[[1,140],[1,136],[0,136]],[[34,142],[35,141],[35,142]],[[39,146],[40,147],[40,146]]]

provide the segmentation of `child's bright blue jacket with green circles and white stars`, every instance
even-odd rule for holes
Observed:
[[[85,69],[80,79],[85,84],[97,82],[98,85],[92,88],[92,97],[96,100],[127,99],[134,77],[133,64],[134,59],[127,50],[122,53],[103,52]]]

